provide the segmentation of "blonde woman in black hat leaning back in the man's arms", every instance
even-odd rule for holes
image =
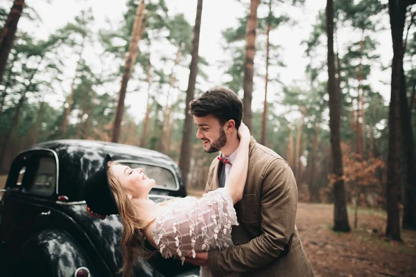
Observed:
[[[234,204],[241,200],[247,178],[250,131],[241,123],[240,144],[225,188],[202,198],[177,198],[156,204],[148,198],[155,185],[140,169],[131,169],[105,157],[104,166],[85,182],[87,211],[98,215],[119,214],[123,223],[121,250],[123,276],[130,276],[137,256],[144,258],[144,240],[164,258],[195,257],[196,252],[232,245],[231,226],[238,225]],[[244,172],[241,174],[241,172]],[[203,269],[209,275],[207,268]]]

